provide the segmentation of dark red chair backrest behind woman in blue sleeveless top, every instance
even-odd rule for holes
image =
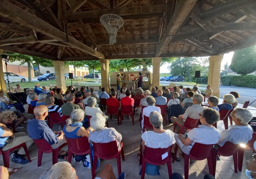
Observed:
[[[69,150],[71,150],[74,153],[84,153],[90,150],[88,138],[85,136],[77,139],[70,139],[66,137],[66,139]]]

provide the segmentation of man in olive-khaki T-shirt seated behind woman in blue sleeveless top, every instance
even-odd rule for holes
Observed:
[[[84,110],[84,104],[82,104],[82,103],[74,104],[74,102],[75,102],[74,93],[68,93],[66,96],[66,99],[67,99],[67,103],[63,104],[61,106],[63,115],[70,116],[70,114],[72,113],[73,110],[78,110],[78,109]]]

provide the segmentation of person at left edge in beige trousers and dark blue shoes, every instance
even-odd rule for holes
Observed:
[[[2,118],[5,116],[5,113],[1,114]],[[14,117],[15,114],[12,115]],[[26,135],[25,132],[12,133],[12,130],[8,129],[5,124],[0,124],[0,147],[2,151],[9,150],[17,145],[22,143],[26,144],[27,149],[33,144],[33,140]],[[12,158],[12,162],[25,165],[29,162],[28,159],[24,159],[23,155],[25,155],[25,150],[23,147],[17,148],[14,151],[14,155]]]

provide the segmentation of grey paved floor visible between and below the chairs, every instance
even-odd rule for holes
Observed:
[[[28,105],[25,104],[25,109],[27,109]],[[137,159],[137,154],[139,153],[140,148],[140,140],[141,140],[141,127],[139,122],[139,116],[135,114],[135,122],[134,126],[132,125],[132,121],[128,120],[125,117],[124,121],[122,121],[122,125],[117,125],[117,119],[115,117],[109,121],[109,127],[114,127],[119,133],[122,134],[122,141],[124,144],[124,152],[125,152],[125,162],[122,161],[122,171],[126,173],[127,179],[140,179],[139,175],[141,166],[139,166],[139,160]],[[24,129],[20,131],[26,132],[26,125]],[[54,124],[55,131],[57,131],[56,125]],[[164,123],[164,129],[173,130],[173,125],[166,126]],[[222,121],[218,122],[218,129],[224,130],[224,125]],[[244,162],[242,172],[234,173],[233,168],[233,157],[222,157],[221,161],[217,161],[216,167],[216,179],[246,179],[245,175],[246,168],[246,160],[250,159],[252,155],[252,151],[245,151],[244,153]],[[42,159],[41,167],[37,167],[37,158],[38,158],[38,147],[35,144],[29,148],[29,156],[32,159],[31,163],[26,165],[19,165],[11,162],[10,157],[10,167],[23,167],[17,173],[12,174],[10,179],[38,179],[49,167],[52,166],[52,153],[44,153]],[[184,159],[180,158],[181,162],[175,162],[172,164],[172,172],[180,173],[184,177]],[[60,160],[59,162],[64,161]],[[76,169],[77,176],[79,179],[91,179],[91,170],[83,167],[83,164],[79,162],[72,162],[72,166]],[[113,167],[113,171],[115,176],[118,177],[116,159],[112,160],[103,160],[101,162],[101,166],[96,171],[96,175],[103,169],[106,164],[111,164]],[[0,165],[3,165],[3,158],[0,157]],[[203,161],[193,161],[189,167],[189,179],[203,179],[204,175],[209,173],[207,160]],[[167,165],[162,165],[160,167],[160,176],[148,176],[145,175],[146,179],[168,179],[168,170]]]

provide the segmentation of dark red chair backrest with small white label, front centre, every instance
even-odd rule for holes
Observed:
[[[145,162],[150,162],[152,165],[163,165],[171,160],[172,145],[168,148],[153,149],[145,146],[144,157]],[[168,156],[162,160],[162,155],[168,152]]]

